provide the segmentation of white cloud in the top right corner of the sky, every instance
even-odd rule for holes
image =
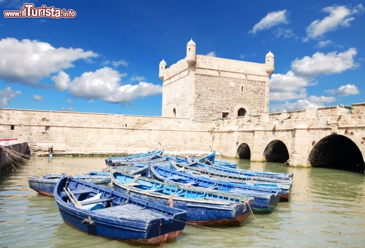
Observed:
[[[330,6],[322,9],[323,12],[329,13],[329,16],[322,20],[313,21],[307,28],[307,38],[316,39],[322,37],[324,33],[336,30],[340,27],[350,26],[350,22],[355,18],[354,14],[363,12],[364,8],[361,4],[354,8],[346,6]]]

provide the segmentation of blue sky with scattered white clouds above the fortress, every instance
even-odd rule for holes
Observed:
[[[73,10],[75,18],[4,11]],[[159,62],[264,63],[270,112],[365,102],[364,1],[0,0],[0,108],[161,116]]]

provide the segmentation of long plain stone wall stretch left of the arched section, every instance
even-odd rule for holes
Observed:
[[[11,109],[1,109],[0,116],[3,138],[28,141],[38,152],[49,145],[63,154],[210,151],[209,128],[188,119]]]

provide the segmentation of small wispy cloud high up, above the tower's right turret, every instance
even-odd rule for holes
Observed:
[[[286,10],[270,12],[262,18],[261,21],[256,23],[248,33],[255,34],[258,31],[270,29],[279,24],[286,24],[288,23],[287,15],[288,13]]]

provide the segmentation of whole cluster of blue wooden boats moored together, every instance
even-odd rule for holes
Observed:
[[[29,187],[53,196],[63,220],[89,234],[129,243],[163,244],[187,223],[241,226],[252,212],[287,201],[293,174],[244,170],[237,164],[162,155],[156,150],[105,159],[85,174],[29,176]]]

